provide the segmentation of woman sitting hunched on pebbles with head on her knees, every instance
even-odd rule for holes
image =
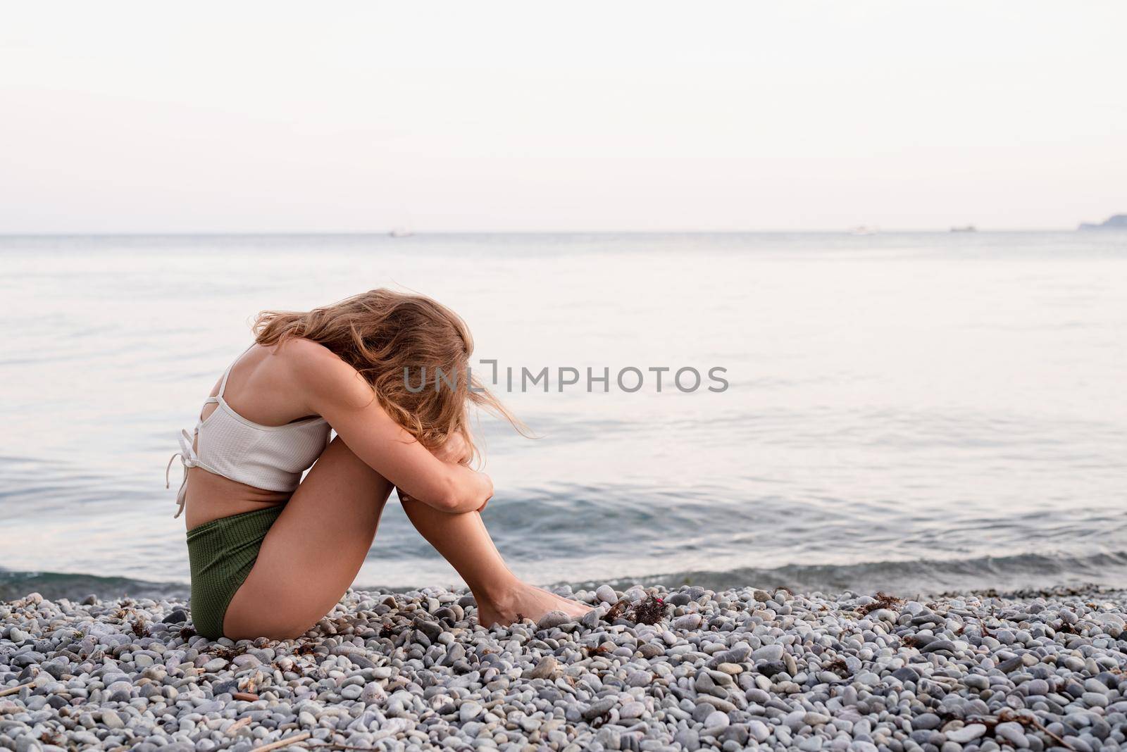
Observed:
[[[481,521],[492,482],[470,467],[467,409],[513,419],[476,379],[471,388],[472,349],[452,311],[387,289],[258,316],[255,343],[172,456],[185,466],[176,516],[186,507],[199,634],[309,629],[352,584],[392,487],[469,584],[480,624],[587,610],[521,582]]]

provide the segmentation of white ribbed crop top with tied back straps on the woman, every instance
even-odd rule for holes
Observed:
[[[254,347],[254,346],[251,346]],[[250,348],[248,348],[249,350]],[[246,355],[246,352],[243,352]],[[242,356],[236,359],[236,362]],[[196,423],[195,437],[198,451],[193,448],[193,436],[180,431],[180,450],[169,458],[165,468],[165,487],[169,487],[169,471],[179,457],[184,465],[184,481],[176,494],[177,510],[184,511],[188,491],[188,468],[203,467],[238,483],[246,483],[266,491],[295,491],[301,474],[309,469],[329,444],[331,429],[323,418],[307,418],[285,426],[260,426],[234,412],[223,399],[227,378],[234,362],[223,371],[219,393],[204,404],[219,406]]]

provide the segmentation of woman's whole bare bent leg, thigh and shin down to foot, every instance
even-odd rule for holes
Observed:
[[[391,487],[340,438],[334,439],[266,534],[254,569],[228,606],[223,633],[232,639],[284,639],[317,624],[360,572]],[[521,582],[478,512],[441,512],[415,500],[406,501],[403,510],[470,585],[480,624],[589,610]]]

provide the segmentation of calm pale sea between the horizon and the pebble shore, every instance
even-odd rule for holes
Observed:
[[[381,285],[517,373],[727,369],[507,395],[540,438],[483,421],[486,521],[533,581],[1127,582],[1127,233],[5,238],[0,269],[0,597],[183,592],[165,464],[251,316]],[[389,504],[357,584],[456,582]]]

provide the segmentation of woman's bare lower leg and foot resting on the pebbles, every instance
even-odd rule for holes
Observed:
[[[521,582],[502,558],[478,512],[443,512],[416,499],[402,502],[407,518],[442,557],[458,570],[478,601],[478,623],[539,619],[552,610],[578,617],[591,610],[574,600]]]

